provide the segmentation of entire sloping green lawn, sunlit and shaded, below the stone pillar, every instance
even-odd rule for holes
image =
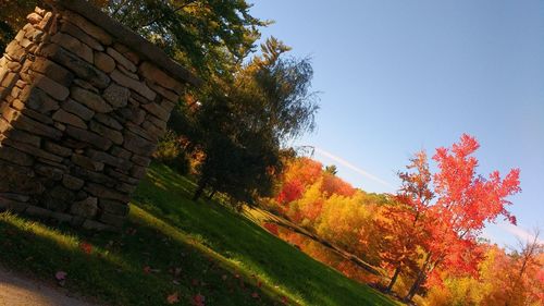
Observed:
[[[230,209],[190,200],[194,184],[153,164],[122,233],[53,229],[0,213],[0,265],[110,305],[397,305]],[[85,245],[90,245],[91,250]]]

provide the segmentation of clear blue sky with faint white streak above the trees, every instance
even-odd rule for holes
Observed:
[[[544,230],[544,1],[254,1],[262,29],[311,57],[318,130],[295,142],[368,192],[394,192],[411,154],[475,136],[479,171],[521,169],[515,245]]]

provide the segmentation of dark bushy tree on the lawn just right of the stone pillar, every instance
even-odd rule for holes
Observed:
[[[195,199],[206,188],[235,201],[271,196],[283,143],[313,130],[311,64],[286,57],[289,49],[270,38],[232,83],[208,87],[210,94],[191,114],[191,140],[205,152]]]

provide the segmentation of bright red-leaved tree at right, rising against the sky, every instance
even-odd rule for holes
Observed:
[[[425,212],[432,220],[426,227],[430,238],[422,245],[425,250],[423,265],[405,297],[407,301],[441,265],[474,268],[478,258],[463,259],[486,222],[503,216],[516,223],[516,218],[507,210],[511,204],[507,197],[520,192],[519,170],[511,170],[504,179],[498,171],[487,179],[478,175],[478,160],[472,155],[479,147],[474,137],[463,134],[452,148],[436,149],[433,157],[438,168],[433,176],[436,203]]]

